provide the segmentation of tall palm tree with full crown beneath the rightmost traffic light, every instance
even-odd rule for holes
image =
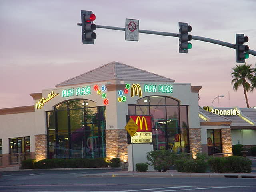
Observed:
[[[247,107],[249,108],[249,102],[247,98],[246,92],[251,90],[251,85],[249,82],[252,81],[253,78],[253,68],[251,68],[252,65],[249,64],[241,64],[241,65],[236,65],[236,67],[232,68],[232,81],[231,83],[233,84],[233,89],[237,91],[237,89],[240,86],[243,86],[244,88],[244,96],[246,100]]]

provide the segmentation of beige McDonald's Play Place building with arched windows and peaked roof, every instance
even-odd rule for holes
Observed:
[[[30,93],[34,105],[0,109],[0,167],[25,158],[119,157],[126,162],[131,142],[134,158],[143,156],[135,162],[145,162],[150,150],[204,152],[201,88],[111,62]],[[125,129],[130,119],[138,125],[132,139]],[[228,123],[217,124],[222,139],[231,140]],[[231,141],[222,142],[221,152],[230,148]]]

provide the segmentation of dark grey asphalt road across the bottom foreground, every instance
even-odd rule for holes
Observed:
[[[245,178],[104,178],[85,176],[112,171],[40,170],[2,172],[0,192],[256,191],[256,179]]]

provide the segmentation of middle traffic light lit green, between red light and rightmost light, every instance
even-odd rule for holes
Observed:
[[[192,35],[188,35],[188,32],[192,31],[192,27],[188,23],[179,22],[179,52],[188,53],[188,49],[192,48],[192,44],[188,41],[192,40]]]

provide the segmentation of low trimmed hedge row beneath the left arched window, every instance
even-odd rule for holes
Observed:
[[[114,158],[110,162],[107,162],[106,158],[43,159],[38,162],[28,159],[22,161],[22,169],[120,167],[120,162],[120,158]]]

